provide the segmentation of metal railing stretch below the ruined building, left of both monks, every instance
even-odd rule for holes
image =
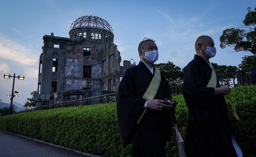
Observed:
[[[59,102],[56,104],[44,105],[35,108],[30,108],[28,110],[19,111],[27,112],[27,111],[35,111],[35,110],[43,110],[43,109],[53,109],[53,108],[60,108],[60,107],[71,107],[71,106],[86,106],[86,105],[93,105],[93,104],[106,104],[110,102],[117,102],[117,93],[99,95],[96,97],[87,97],[84,99],[79,100],[72,100],[67,102]]]

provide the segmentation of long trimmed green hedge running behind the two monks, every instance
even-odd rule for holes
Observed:
[[[239,121],[232,121],[244,157],[256,155],[256,86],[239,86],[231,91]],[[178,102],[177,120],[185,135],[187,107],[183,95],[174,96]],[[229,97],[226,97],[231,119]],[[117,126],[116,104],[56,108],[0,117],[0,130],[41,139],[60,146],[106,157],[128,157],[131,145],[122,148]],[[167,142],[168,157],[178,157],[176,136]]]

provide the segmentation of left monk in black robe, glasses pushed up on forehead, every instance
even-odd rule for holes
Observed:
[[[158,47],[154,40],[144,39],[138,47],[139,64],[126,70],[118,88],[118,125],[123,146],[133,144],[132,157],[166,157],[165,144],[171,138],[169,109],[174,102],[165,104],[165,98],[171,97],[169,84],[153,65],[158,60]],[[155,93],[145,94],[156,74],[159,84],[149,90]]]

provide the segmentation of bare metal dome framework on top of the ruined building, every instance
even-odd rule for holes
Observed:
[[[99,27],[113,33],[113,29],[110,26],[110,24],[106,20],[98,16],[82,16],[76,19],[74,22],[72,22],[70,30],[76,27],[83,27],[83,26]]]

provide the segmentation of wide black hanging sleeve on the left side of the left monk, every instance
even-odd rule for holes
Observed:
[[[131,143],[133,128],[142,114],[145,99],[136,95],[136,73],[128,69],[124,74],[117,94],[117,118],[123,146]]]

